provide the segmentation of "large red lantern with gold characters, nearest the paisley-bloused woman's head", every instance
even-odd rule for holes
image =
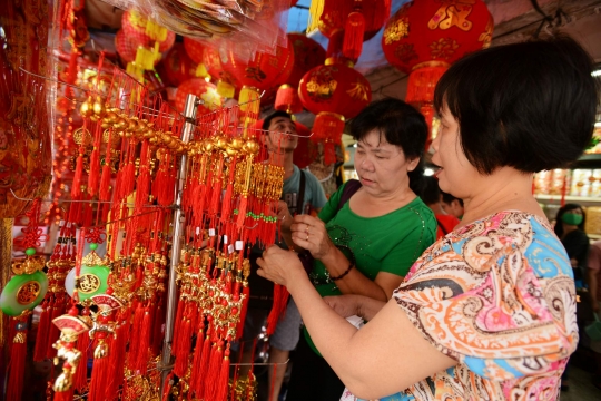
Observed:
[[[449,66],[487,48],[494,21],[482,0],[410,1],[386,22],[382,48],[388,62],[408,74],[406,101],[432,126],[434,88]]]

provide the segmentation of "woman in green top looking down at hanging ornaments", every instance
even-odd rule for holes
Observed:
[[[315,258],[309,276],[322,296],[358,294],[387,301],[436,236],[433,213],[415,195],[427,126],[412,106],[384,99],[365,108],[351,133],[357,140],[361,188],[344,202],[346,183],[318,218],[297,215],[288,234]],[[337,401],[343,390],[305,332],[286,400]]]

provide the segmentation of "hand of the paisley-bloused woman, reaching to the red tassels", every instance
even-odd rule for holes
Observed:
[[[279,246],[272,245],[263,256],[257,260],[259,270],[257,274],[276,284],[288,286],[298,274],[307,276],[303,263],[290,251],[282,250]]]

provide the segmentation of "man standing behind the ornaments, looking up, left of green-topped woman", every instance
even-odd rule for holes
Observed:
[[[284,188],[282,199],[278,204],[278,221],[280,241],[278,245],[283,248],[293,246],[290,225],[293,216],[297,214],[318,213],[326,204],[327,199],[322,185],[317,178],[307,170],[300,170],[293,162],[294,150],[298,145],[298,136],[296,134],[296,124],[289,114],[285,111],[275,111],[263,121],[264,145],[269,153],[270,162],[282,164],[284,167]],[[276,238],[277,241],[277,238]],[[256,271],[256,258],[260,256],[264,250],[255,246],[250,263],[253,271]],[[250,300],[248,304],[248,313],[243,333],[243,341],[255,339],[263,326],[263,322],[267,317],[272,301],[266,300],[273,294],[273,284],[267,280],[259,277],[253,273],[249,277]],[[289,356],[289,352],[296,348],[299,338],[300,315],[296,305],[290,300],[286,307],[286,313],[280,317],[275,333],[269,339],[269,363],[277,363],[275,369],[269,369],[269,385],[273,389],[273,399],[277,400],[286,365],[283,365]],[[243,360],[250,361],[250,346],[245,346]],[[272,398],[269,398],[272,399]]]

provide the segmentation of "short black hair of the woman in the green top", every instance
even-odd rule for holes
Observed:
[[[410,188],[420,194],[424,174],[422,156],[428,131],[424,116],[403,100],[384,98],[370,104],[351,121],[351,135],[357,141],[374,129],[388,144],[398,146],[406,159],[420,159],[415,169],[408,173]]]

